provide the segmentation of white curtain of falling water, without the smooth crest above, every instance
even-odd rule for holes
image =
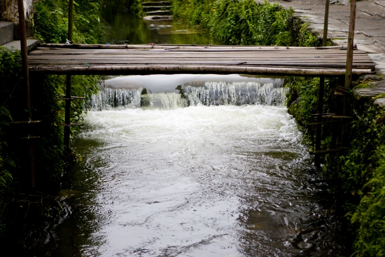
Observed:
[[[89,109],[124,108],[161,108],[197,105],[245,105],[264,104],[284,106],[286,88],[276,87],[273,83],[257,82],[205,82],[196,86],[186,83],[178,93],[147,94],[147,90],[103,88],[89,101]],[[146,92],[145,94],[142,94]]]

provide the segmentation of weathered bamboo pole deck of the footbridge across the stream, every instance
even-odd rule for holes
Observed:
[[[346,55],[342,47],[41,44],[28,60],[30,72],[46,74],[340,76]],[[353,74],[373,71],[367,53],[355,50]]]

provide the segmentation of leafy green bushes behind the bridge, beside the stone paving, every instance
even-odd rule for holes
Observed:
[[[173,0],[175,19],[207,30],[219,44],[318,46],[293,9],[254,0]]]

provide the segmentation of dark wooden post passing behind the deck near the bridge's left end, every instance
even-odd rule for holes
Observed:
[[[73,30],[73,0],[69,0],[68,6],[68,40],[72,41],[72,30]],[[68,126],[71,123],[71,86],[72,86],[72,77],[67,75],[66,79],[66,89],[65,89],[65,116],[64,116],[64,147],[67,150],[67,153],[71,153],[69,141],[71,135],[71,129]]]

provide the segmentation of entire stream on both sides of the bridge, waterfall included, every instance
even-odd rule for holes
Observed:
[[[209,43],[174,22],[106,13],[110,43]],[[327,185],[307,183],[319,171],[287,113],[282,80],[123,76],[99,86],[72,142],[83,161],[58,196],[68,215],[42,229],[38,256],[344,251]]]

